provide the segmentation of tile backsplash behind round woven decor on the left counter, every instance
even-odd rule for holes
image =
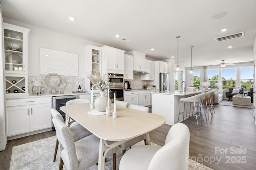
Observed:
[[[46,84],[44,83],[44,78],[46,76],[28,76],[28,94],[32,94],[32,87],[35,85],[35,82],[39,82],[40,87],[45,87]],[[76,82],[80,84],[82,89],[85,89],[85,78],[74,78],[74,77],[62,77],[62,79],[66,80],[67,84],[65,81],[62,81],[60,84],[60,88],[63,88],[66,86],[64,89],[64,93],[71,93],[72,91],[78,90],[78,86],[76,86]],[[59,78],[56,76],[50,76],[48,77],[48,83],[50,86],[56,86],[55,84],[59,84]],[[61,89],[55,88],[57,92],[59,92]],[[52,88],[47,87],[47,94],[50,94]]]

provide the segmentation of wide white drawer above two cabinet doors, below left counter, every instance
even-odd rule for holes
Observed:
[[[52,97],[39,97],[39,98],[24,98],[24,99],[13,99],[6,100],[6,107],[10,106],[24,106],[31,104],[42,104],[42,103],[52,103]]]

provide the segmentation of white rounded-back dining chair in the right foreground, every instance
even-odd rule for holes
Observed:
[[[183,123],[173,125],[162,148],[140,145],[121,158],[119,170],[188,170],[189,129]]]

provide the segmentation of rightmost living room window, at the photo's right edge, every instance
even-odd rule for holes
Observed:
[[[253,67],[240,68],[240,83],[244,91],[250,91],[253,87]]]

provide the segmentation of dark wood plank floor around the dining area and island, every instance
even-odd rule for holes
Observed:
[[[190,129],[190,158],[215,170],[256,170],[256,127],[252,113],[250,113],[252,109],[221,105],[214,105],[214,108],[216,113],[205,125],[199,127],[199,131],[197,131],[194,116],[184,121]],[[164,124],[150,132],[151,141],[163,146],[170,127]],[[6,150],[0,152],[0,170],[9,169],[13,146],[53,135],[55,131],[49,131],[8,141]],[[215,147],[220,150],[228,149],[228,151],[222,154],[219,151],[215,153]],[[247,152],[244,154],[230,153],[240,147],[246,149]],[[203,161],[200,161],[200,158],[203,158]],[[214,158],[214,162],[208,161]],[[232,163],[236,162],[235,160],[245,163]]]

